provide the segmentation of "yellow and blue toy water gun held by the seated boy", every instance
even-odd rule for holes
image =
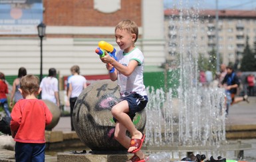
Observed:
[[[106,50],[106,52],[108,52],[108,54],[114,58],[115,60],[116,59],[116,49],[109,43],[105,42],[105,41],[100,41],[98,42],[98,48],[96,48],[95,52],[96,54],[98,54],[100,56],[100,58],[104,57],[105,56],[105,52],[104,50]],[[109,71],[110,73],[113,73],[114,72],[114,67]]]

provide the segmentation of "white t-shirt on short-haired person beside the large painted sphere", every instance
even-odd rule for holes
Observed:
[[[73,97],[78,97],[82,90],[84,89],[84,84],[86,83],[86,79],[82,75],[72,75],[68,79],[69,86],[72,86],[72,91],[71,91],[71,96],[70,98]]]

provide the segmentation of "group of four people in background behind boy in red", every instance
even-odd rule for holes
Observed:
[[[68,85],[70,86],[67,86],[66,95],[68,97],[68,102],[66,102],[66,106],[70,106],[72,111],[78,95],[80,95],[82,90],[86,87],[86,79],[82,75],[79,75],[80,69],[78,65],[73,65],[70,68],[70,73],[71,75],[68,77]],[[0,107],[3,108],[7,117],[11,117],[11,110],[15,103],[24,99],[20,90],[20,82],[21,78],[26,75],[27,69],[25,67],[20,67],[17,78],[14,79],[11,87],[5,79],[5,74],[0,72]],[[9,91],[9,88],[11,88],[11,91]],[[59,81],[57,79],[57,70],[55,68],[49,69],[49,74],[40,81],[39,88],[41,89],[41,93],[37,96],[38,99],[48,100],[55,103],[58,107],[61,106]],[[72,130],[74,130],[73,127]]]

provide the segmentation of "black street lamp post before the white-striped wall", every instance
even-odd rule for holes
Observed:
[[[38,26],[37,26],[37,31],[38,31],[38,36],[41,40],[41,56],[40,56],[40,82],[42,81],[43,78],[43,37],[45,36],[45,24],[43,24],[43,22],[41,22]]]

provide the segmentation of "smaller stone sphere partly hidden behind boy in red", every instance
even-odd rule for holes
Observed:
[[[61,110],[57,106],[57,104],[55,104],[49,100],[43,100],[43,101],[45,102],[45,104],[47,105],[47,107],[49,108],[51,113],[53,114],[53,120],[52,120],[51,124],[49,124],[45,127],[45,130],[52,130],[53,128],[55,128],[55,126],[57,126],[57,124],[61,118]]]

